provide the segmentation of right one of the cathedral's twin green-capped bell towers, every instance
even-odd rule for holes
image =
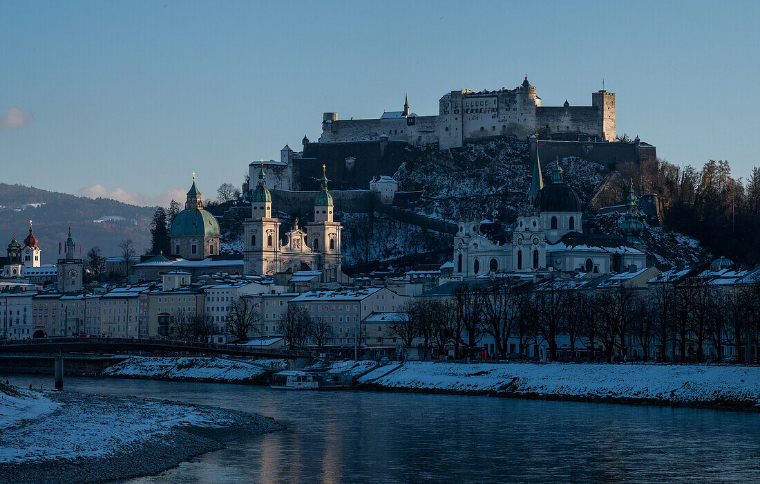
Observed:
[[[340,269],[340,222],[333,219],[334,202],[328,191],[328,177],[322,165],[321,190],[314,201],[314,221],[306,226],[306,240],[318,257],[318,269]]]

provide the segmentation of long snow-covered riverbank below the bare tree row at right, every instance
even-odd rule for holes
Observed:
[[[407,362],[382,365],[359,383],[382,390],[760,409],[760,367],[746,366]]]

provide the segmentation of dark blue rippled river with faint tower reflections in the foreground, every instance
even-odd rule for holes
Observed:
[[[49,377],[10,378],[52,386]],[[760,480],[758,413],[84,377],[66,378],[65,389],[258,412],[287,425],[127,482]]]

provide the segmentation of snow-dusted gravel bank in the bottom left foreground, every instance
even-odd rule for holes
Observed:
[[[281,426],[262,416],[130,396],[0,385],[0,481],[102,482],[158,473]]]

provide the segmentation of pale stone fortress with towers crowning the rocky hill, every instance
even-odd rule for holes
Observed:
[[[320,142],[348,142],[367,139],[400,140],[410,145],[439,145],[439,149],[459,148],[466,142],[499,135],[525,137],[538,133],[539,139],[559,141],[615,141],[615,94],[591,94],[591,106],[543,107],[536,88],[527,76],[515,89],[473,92],[451,91],[439,100],[437,116],[388,111],[378,119],[337,119],[324,113]]]

